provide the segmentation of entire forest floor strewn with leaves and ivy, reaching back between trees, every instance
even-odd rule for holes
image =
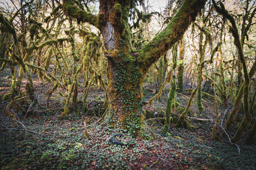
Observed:
[[[62,97],[55,93],[47,107],[45,98],[50,87],[40,81],[34,85],[40,99],[35,112],[24,118],[25,115],[13,108],[25,130],[21,124],[13,126],[12,121],[6,119],[7,103],[1,98],[10,90],[11,77],[6,72],[0,74],[0,169],[256,169],[256,143],[245,145],[242,139],[236,146],[231,145],[225,134],[223,142],[212,140],[216,114],[210,99],[204,99],[201,114],[194,100],[189,119],[195,128],[187,130],[172,125],[167,135],[162,135],[159,117],[163,116],[167,103],[169,88],[165,89],[160,101],[145,106],[151,118],[145,120],[145,131],[151,139],[143,140],[109,128],[104,122],[96,123],[101,118],[104,102],[101,89],[93,87],[89,91],[89,111],[80,110],[79,115],[71,113],[65,120],[59,120],[64,107]],[[149,87],[144,91],[145,101],[154,96]],[[173,122],[188,99],[189,94],[177,93],[180,106],[173,110]],[[226,108],[219,108],[220,113],[225,111]],[[87,139],[84,121],[89,133]],[[113,132],[123,133],[125,137],[119,140],[130,141],[129,145],[111,145],[108,138]]]

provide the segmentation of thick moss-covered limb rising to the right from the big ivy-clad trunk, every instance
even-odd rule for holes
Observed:
[[[175,42],[182,39],[189,25],[195,21],[197,14],[204,7],[206,0],[187,0],[168,23],[165,30],[159,33],[143,50],[140,50],[138,62],[145,68],[145,72],[152,63],[169,50]]]

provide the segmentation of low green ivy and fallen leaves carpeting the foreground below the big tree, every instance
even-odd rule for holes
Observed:
[[[23,132],[1,133],[1,169],[255,169],[255,146],[240,145],[241,153],[228,142],[212,142],[211,126],[196,130],[172,128],[160,134],[160,124],[148,123],[156,139],[134,139],[128,132],[108,128],[104,123],[93,125],[95,116],[69,115],[58,120],[50,112],[28,118]],[[84,137],[85,120],[89,138]],[[128,146],[111,145],[113,132],[130,141]],[[150,132],[148,132],[150,133]]]

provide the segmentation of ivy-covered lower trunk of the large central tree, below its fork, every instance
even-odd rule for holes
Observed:
[[[143,79],[136,63],[108,61],[110,106],[106,120],[111,125],[138,135],[143,120]]]

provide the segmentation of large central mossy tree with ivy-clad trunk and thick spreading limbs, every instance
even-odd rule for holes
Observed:
[[[145,47],[134,51],[128,18],[137,1],[101,0],[97,16],[74,6],[71,0],[64,1],[63,11],[67,16],[77,18],[78,23],[82,21],[96,26],[103,36],[109,68],[108,123],[138,135],[143,120],[142,85],[148,69],[182,38],[205,3],[206,0],[184,1],[165,30]]]

